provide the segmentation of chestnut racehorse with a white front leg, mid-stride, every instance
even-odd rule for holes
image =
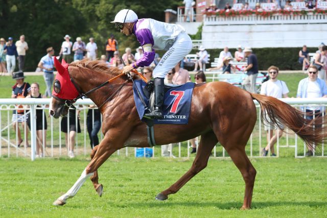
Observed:
[[[64,74],[62,66],[56,63],[59,74]],[[75,81],[75,85],[85,93],[121,73],[117,68],[108,68],[100,61],[82,60],[67,66],[66,74]],[[127,76],[114,80],[107,86],[89,94],[97,105],[102,105],[124,82]],[[61,84],[61,88],[63,84]],[[76,97],[76,96],[75,96]],[[252,192],[256,171],[245,153],[246,143],[256,122],[256,108],[253,99],[266,110],[271,122],[277,120],[301,137],[309,148],[320,144],[327,135],[327,129],[321,127],[322,117],[309,122],[303,113],[275,98],[252,94],[226,82],[196,84],[186,125],[155,125],[154,135],[157,144],[180,142],[201,136],[198,152],[192,167],[176,183],[161,191],[157,200],[166,200],[176,193],[186,182],[192,179],[207,165],[207,161],[216,143],[219,141],[230,158],[239,168],[245,181],[245,195],[242,209],[251,207]],[[103,140],[91,152],[91,161],[80,178],[64,195],[53,204],[64,205],[73,198],[82,184],[90,177],[98,195],[102,195],[103,186],[98,182],[98,168],[115,151],[124,147],[149,147],[146,124],[141,122],[136,111],[132,83],[127,82],[112,100],[101,108],[103,115]],[[50,114],[54,117],[67,114],[68,107],[58,98],[52,98]],[[327,120],[325,118],[324,120]],[[314,128],[314,125],[316,127]],[[326,126],[326,125],[324,125]],[[171,134],[171,133],[174,134]]]

